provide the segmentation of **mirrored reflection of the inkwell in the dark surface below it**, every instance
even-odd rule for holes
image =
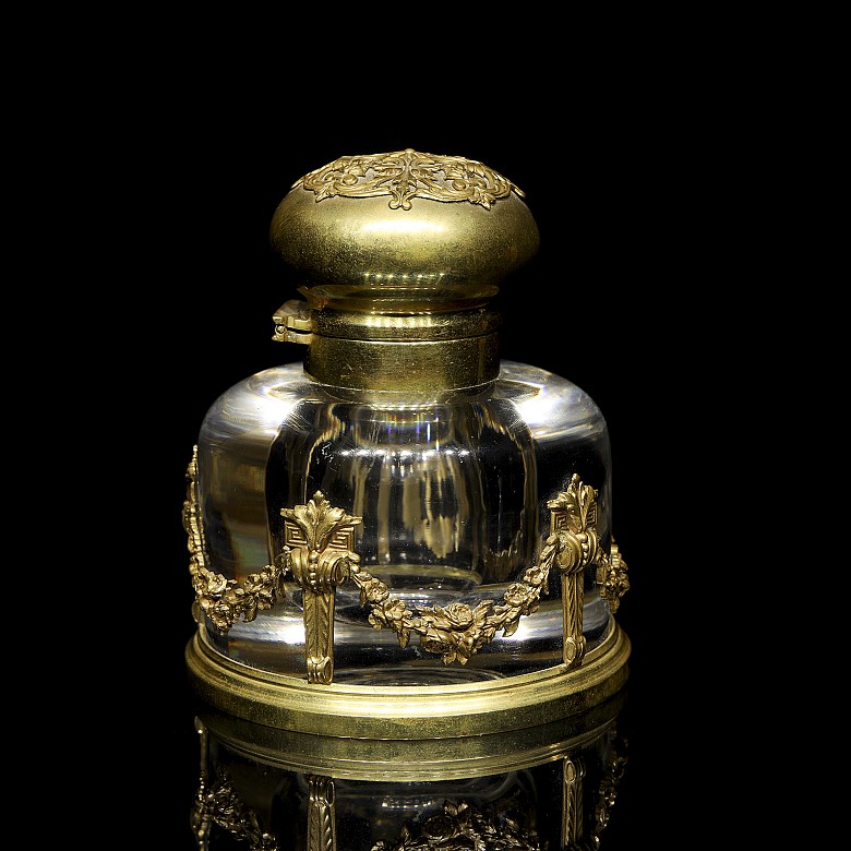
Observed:
[[[211,850],[226,836],[252,851],[604,849],[627,760],[623,699],[428,746],[303,735],[206,709],[192,827]]]

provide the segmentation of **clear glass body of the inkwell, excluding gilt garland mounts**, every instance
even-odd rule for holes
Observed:
[[[208,567],[243,582],[283,551],[283,508],[316,491],[362,518],[360,566],[411,611],[499,602],[538,563],[550,529],[548,501],[577,474],[597,491],[597,531],[611,544],[609,434],[594,400],[572,382],[515,361],[475,393],[417,401],[361,400],[275,367],[226,391],[199,436],[200,510]],[[594,567],[584,577],[586,652],[606,636],[608,604]],[[285,577],[284,599],[225,634],[204,628],[224,656],[304,676],[303,591]],[[465,663],[447,664],[413,635],[369,622],[359,587],[336,586],[334,681],[421,685],[510,676],[562,660],[558,571],[537,611],[511,636],[498,633]]]

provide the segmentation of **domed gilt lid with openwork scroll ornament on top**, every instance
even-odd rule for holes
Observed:
[[[538,251],[523,199],[502,175],[460,156],[344,156],[293,184],[271,241],[312,308],[475,308]]]

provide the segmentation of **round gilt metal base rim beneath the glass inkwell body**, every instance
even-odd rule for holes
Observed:
[[[435,686],[308,683],[235,662],[201,631],[187,645],[190,682],[214,709],[299,733],[341,739],[434,740],[522,730],[595,707],[626,682],[630,639],[612,626],[582,667]]]

